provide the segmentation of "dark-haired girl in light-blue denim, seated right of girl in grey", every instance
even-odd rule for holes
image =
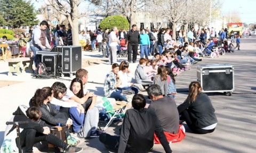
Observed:
[[[175,78],[174,74],[172,73],[170,66],[165,66],[166,74],[167,74],[167,82],[168,82],[168,94],[167,96],[175,98],[175,95],[177,94],[176,86],[175,86]]]

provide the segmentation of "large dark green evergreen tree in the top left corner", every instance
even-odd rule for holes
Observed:
[[[0,13],[4,18],[5,25],[19,28],[22,25],[38,23],[34,6],[30,0],[27,2],[25,0],[0,0],[0,6]]]

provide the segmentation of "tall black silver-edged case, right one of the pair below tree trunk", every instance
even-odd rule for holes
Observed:
[[[62,47],[62,73],[73,74],[82,68],[82,47]]]

